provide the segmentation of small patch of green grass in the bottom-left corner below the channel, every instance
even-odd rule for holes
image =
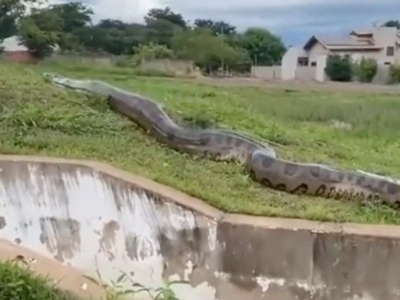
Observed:
[[[16,261],[0,262],[0,299],[7,300],[82,300],[69,291],[59,289],[41,275]]]

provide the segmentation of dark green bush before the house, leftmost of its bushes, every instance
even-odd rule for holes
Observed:
[[[333,81],[350,81],[353,69],[349,55],[329,55],[326,59],[325,72]]]

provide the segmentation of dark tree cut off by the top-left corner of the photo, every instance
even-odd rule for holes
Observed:
[[[0,42],[16,33],[16,19],[21,17],[28,4],[36,0],[1,0],[0,1]]]

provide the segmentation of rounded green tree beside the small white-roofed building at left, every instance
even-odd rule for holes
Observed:
[[[57,45],[62,19],[49,9],[32,9],[18,26],[18,38],[36,57],[42,58]]]

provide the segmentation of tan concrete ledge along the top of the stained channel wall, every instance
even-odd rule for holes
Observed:
[[[359,223],[333,223],[310,221],[296,218],[253,216],[237,213],[224,213],[223,211],[209,205],[203,200],[192,197],[184,192],[163,185],[148,178],[138,176],[127,171],[113,167],[110,164],[85,159],[66,159],[49,156],[29,156],[29,155],[1,155],[0,161],[25,161],[25,162],[44,162],[56,164],[84,165],[93,170],[107,173],[111,176],[129,181],[143,189],[151,190],[164,200],[173,201],[189,209],[194,209],[201,214],[216,220],[236,224],[251,224],[267,228],[283,228],[291,230],[310,230],[315,232],[334,232],[342,234],[356,234],[366,236],[379,236],[400,238],[399,225],[384,224],[359,224]]]

